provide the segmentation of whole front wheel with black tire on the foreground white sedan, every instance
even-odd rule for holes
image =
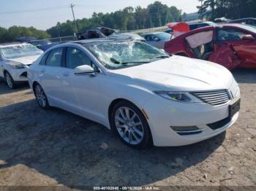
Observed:
[[[120,101],[113,106],[110,125],[119,139],[129,147],[143,149],[152,145],[146,118],[140,109],[129,101]]]

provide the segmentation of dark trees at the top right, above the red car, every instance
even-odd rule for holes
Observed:
[[[256,17],[255,0],[198,0],[200,17],[206,17],[214,21],[217,17],[227,17],[228,19],[238,19],[243,17]]]

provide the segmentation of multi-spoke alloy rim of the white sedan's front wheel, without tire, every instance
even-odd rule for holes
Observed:
[[[125,142],[132,145],[140,144],[143,141],[144,127],[136,112],[127,106],[116,110],[116,129]]]

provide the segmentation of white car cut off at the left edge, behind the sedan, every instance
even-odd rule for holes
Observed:
[[[27,69],[42,55],[42,50],[27,43],[0,44],[0,77],[10,88],[27,81]]]

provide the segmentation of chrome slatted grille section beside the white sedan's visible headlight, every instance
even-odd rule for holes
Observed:
[[[193,92],[191,94],[212,106],[220,106],[222,104],[227,104],[227,102],[230,101],[230,95],[227,90]]]

